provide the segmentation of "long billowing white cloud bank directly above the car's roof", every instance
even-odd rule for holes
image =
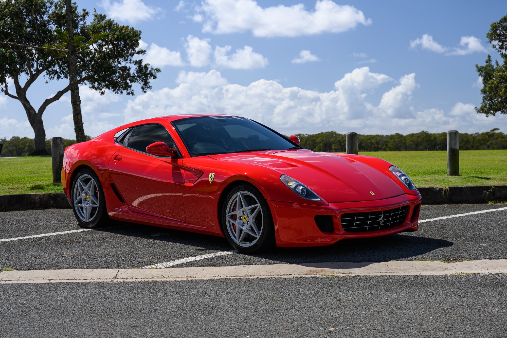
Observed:
[[[408,78],[413,80],[413,75]],[[212,79],[210,81],[209,79]],[[240,114],[281,130],[299,128],[321,131],[353,125],[368,115],[382,119],[389,116],[388,104],[403,106],[411,90],[402,78],[395,91],[376,107],[365,100],[365,91],[392,81],[384,74],[371,73],[368,67],[356,69],[335,83],[336,90],[319,93],[298,87],[284,88],[275,81],[259,80],[248,86],[226,84],[219,72],[185,73],[178,76],[176,88],[164,88],[129,100],[126,122],[150,116],[183,113]],[[210,83],[212,82],[212,83]],[[410,81],[409,81],[410,82]],[[405,91],[403,91],[402,89]],[[399,92],[402,92],[400,94]],[[386,112],[387,111],[387,112]],[[361,122],[361,123],[363,123]],[[385,123],[382,123],[385,124]]]

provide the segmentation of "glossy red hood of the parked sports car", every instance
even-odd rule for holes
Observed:
[[[305,184],[330,203],[378,200],[405,193],[417,194],[417,191],[404,190],[401,183],[395,181],[396,178],[388,171],[390,163],[368,156],[316,153],[299,149],[210,157],[272,168]]]

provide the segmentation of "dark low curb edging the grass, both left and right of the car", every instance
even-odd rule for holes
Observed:
[[[473,204],[489,201],[507,201],[507,185],[478,185],[466,187],[418,188],[422,204]],[[31,209],[70,209],[65,194],[57,192],[0,195],[0,211]]]

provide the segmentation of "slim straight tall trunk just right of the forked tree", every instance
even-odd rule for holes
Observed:
[[[67,56],[68,56],[68,78],[70,82],[70,104],[72,105],[72,116],[74,118],[74,131],[76,141],[85,142],[85,129],[83,127],[83,116],[81,115],[81,97],[79,96],[79,83],[76,61],[76,48],[74,46],[74,28],[72,1],[65,0],[66,28],[68,32]]]

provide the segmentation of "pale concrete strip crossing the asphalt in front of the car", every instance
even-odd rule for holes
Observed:
[[[162,269],[113,268],[4,271],[0,273],[0,284],[506,273],[507,259],[481,259],[456,263],[402,260],[364,263],[330,262],[309,264],[175,267]]]

